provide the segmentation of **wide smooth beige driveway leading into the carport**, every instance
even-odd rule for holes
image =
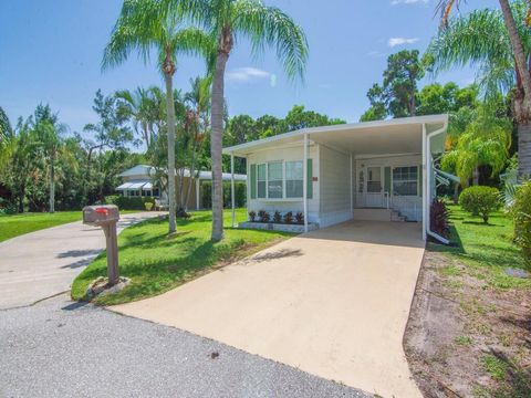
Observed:
[[[383,397],[420,397],[402,339],[423,255],[418,224],[353,221],[113,310]]]

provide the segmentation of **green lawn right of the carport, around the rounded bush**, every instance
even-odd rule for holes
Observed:
[[[519,249],[512,243],[513,226],[502,211],[494,212],[485,224],[459,206],[449,205],[452,242],[449,248],[430,243],[429,250],[446,252],[469,265],[470,273],[497,289],[530,289],[531,280],[506,275],[507,268],[524,269]],[[456,269],[457,270],[457,269]],[[451,273],[452,269],[446,270]],[[457,272],[457,271],[456,271]]]

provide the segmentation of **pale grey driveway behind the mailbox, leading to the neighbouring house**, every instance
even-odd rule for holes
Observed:
[[[118,231],[163,212],[123,214]],[[81,221],[0,243],[0,310],[30,305],[70,290],[75,276],[103,250],[100,228]]]

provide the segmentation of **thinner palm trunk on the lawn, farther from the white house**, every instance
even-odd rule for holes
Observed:
[[[169,69],[169,65],[168,65]],[[169,73],[168,73],[169,72]],[[173,69],[175,72],[175,66]],[[173,73],[165,67],[164,81],[166,83],[166,108],[168,122],[168,208],[169,208],[169,227],[168,233],[177,230],[175,221],[175,107],[174,107],[174,87]]]

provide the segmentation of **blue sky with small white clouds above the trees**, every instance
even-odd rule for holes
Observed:
[[[306,32],[310,59],[305,84],[284,78],[273,51],[256,60],[242,41],[229,60],[226,96],[230,115],[283,116],[294,104],[356,122],[367,108],[367,88],[381,82],[388,54],[424,50],[437,30],[436,0],[266,0],[281,7]],[[473,3],[470,2],[470,3]],[[138,85],[163,85],[155,65],[136,56],[102,73],[103,49],[118,15],[119,0],[17,0],[0,6],[0,106],[14,124],[39,103],[49,103],[71,130],[95,122],[92,101]],[[476,4],[478,6],[478,4]],[[481,6],[497,7],[494,0]],[[466,10],[461,10],[465,12]],[[175,76],[188,88],[205,72],[200,60],[183,57]],[[471,70],[438,77],[460,85]],[[427,80],[429,82],[429,80]]]

